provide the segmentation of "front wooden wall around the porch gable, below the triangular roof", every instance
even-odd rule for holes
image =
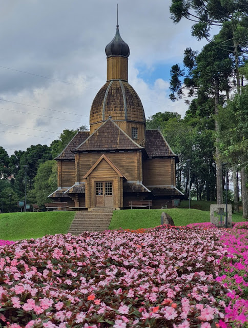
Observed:
[[[141,152],[115,152],[105,153],[114,165],[121,171],[128,180],[137,181],[140,180],[140,167]],[[84,182],[85,174],[90,170],[94,163],[101,157],[102,153],[80,153],[79,154],[79,181]],[[100,165],[100,164],[99,164]],[[99,166],[98,165],[98,166]],[[139,169],[138,169],[139,167]],[[105,172],[102,171],[101,176],[105,176]]]

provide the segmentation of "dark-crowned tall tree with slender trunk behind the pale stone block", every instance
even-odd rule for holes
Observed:
[[[183,85],[188,90],[187,96],[198,96],[198,100],[194,101],[193,105],[200,102],[204,105],[214,104],[214,108],[209,108],[211,111],[207,117],[218,114],[218,106],[220,104],[221,91],[229,90],[228,79],[232,73],[232,61],[229,58],[229,53],[225,50],[220,50],[216,43],[220,44],[219,36],[214,37],[215,43],[208,44],[203,47],[198,54],[190,48],[184,51],[184,69],[179,65],[174,65],[171,70],[170,89],[173,94],[170,95],[172,100],[182,98],[184,96],[182,81],[180,77],[184,77]],[[185,75],[185,70],[187,74]],[[176,95],[175,95],[176,93]],[[210,98],[214,101],[210,102]],[[192,106],[195,107],[195,106]],[[205,106],[204,106],[205,107]],[[202,115],[201,115],[202,116]],[[218,133],[218,122],[215,122],[215,131]],[[218,138],[218,136],[216,136]],[[218,141],[218,140],[217,140]],[[223,203],[223,186],[222,186],[222,164],[219,154],[218,142],[216,144],[216,198],[217,204]]]

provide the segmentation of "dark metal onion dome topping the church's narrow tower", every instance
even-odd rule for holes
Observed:
[[[108,57],[111,56],[123,56],[128,57],[130,55],[129,46],[124,42],[119,33],[119,25],[116,25],[116,33],[113,40],[106,46],[105,53]]]

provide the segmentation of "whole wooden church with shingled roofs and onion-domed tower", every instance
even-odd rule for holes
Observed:
[[[70,208],[128,208],[131,200],[172,207],[176,188],[174,154],[159,130],[146,130],[139,96],[128,83],[129,46],[117,25],[106,46],[107,82],[90,111],[90,131],[78,132],[55,159],[58,188],[48,197]]]

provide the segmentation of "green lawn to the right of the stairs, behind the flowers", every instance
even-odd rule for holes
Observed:
[[[160,226],[161,213],[168,213],[176,226],[186,226],[189,223],[210,222],[210,212],[195,209],[169,210],[123,210],[115,211],[109,229],[139,229]],[[241,213],[233,214],[234,222],[242,222]]]

